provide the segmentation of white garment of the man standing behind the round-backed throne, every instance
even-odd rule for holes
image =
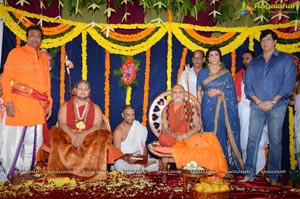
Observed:
[[[197,74],[194,67],[186,68],[180,75],[178,84],[182,85],[185,91],[188,91],[187,82],[189,82],[190,93],[197,97]]]

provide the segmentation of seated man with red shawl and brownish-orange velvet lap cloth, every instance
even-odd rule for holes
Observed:
[[[89,83],[78,81],[74,92],[75,96],[59,109],[60,129],[52,129],[48,175],[84,181],[105,179],[107,154],[116,155],[114,159],[123,154],[119,150],[115,150],[119,154],[110,154],[111,150],[108,150],[113,147],[109,146],[113,135],[110,131],[100,130],[102,111],[90,99]]]

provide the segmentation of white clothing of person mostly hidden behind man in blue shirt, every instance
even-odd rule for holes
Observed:
[[[247,142],[248,142],[248,135],[249,135],[250,101],[245,96],[243,82],[241,83],[241,87],[242,87],[242,95],[241,95],[241,101],[238,103],[238,111],[239,111],[239,118],[240,118],[240,125],[241,125],[240,142],[241,142],[242,156],[245,163],[247,157],[246,152],[247,152]],[[256,174],[258,174],[265,167],[266,164],[265,149],[267,144],[268,144],[268,128],[267,125],[265,125],[263,134],[259,142],[257,163],[256,163]]]

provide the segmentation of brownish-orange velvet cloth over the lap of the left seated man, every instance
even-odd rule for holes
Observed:
[[[108,150],[112,142],[112,133],[98,130],[87,135],[79,148],[72,146],[71,138],[62,130],[54,127],[51,135],[51,152],[48,162],[50,177],[75,177],[84,181],[106,178],[108,151],[114,152],[114,158],[123,154]],[[110,161],[112,161],[110,159]]]

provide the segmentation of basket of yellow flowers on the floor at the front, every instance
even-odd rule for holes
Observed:
[[[200,182],[200,183],[198,183]],[[199,177],[192,191],[194,199],[227,199],[230,193],[230,182],[217,175]]]

